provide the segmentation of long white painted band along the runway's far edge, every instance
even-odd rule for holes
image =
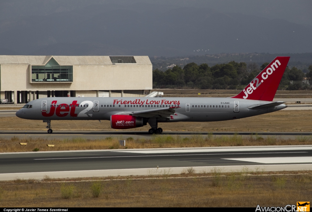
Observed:
[[[202,149],[160,149],[123,151],[127,153],[195,153],[195,152],[246,152],[246,151],[285,151],[285,150],[312,150],[312,147],[251,147],[251,148],[202,148]]]

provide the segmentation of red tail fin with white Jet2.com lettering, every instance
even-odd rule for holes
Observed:
[[[290,57],[276,57],[237,96],[232,98],[273,101]]]

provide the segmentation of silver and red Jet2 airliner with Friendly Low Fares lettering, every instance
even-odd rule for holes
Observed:
[[[276,57],[234,97],[48,97],[28,102],[16,116],[43,120],[48,133],[53,132],[51,120],[110,120],[113,129],[149,124],[149,134],[161,134],[162,122],[223,121],[271,113],[287,107],[273,98],[289,59]]]

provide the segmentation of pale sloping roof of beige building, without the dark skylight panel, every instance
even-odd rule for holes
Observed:
[[[133,56],[136,64],[152,64],[148,56]],[[0,64],[31,64],[45,65],[53,58],[60,65],[109,65],[110,56],[29,56],[29,55],[0,55]]]

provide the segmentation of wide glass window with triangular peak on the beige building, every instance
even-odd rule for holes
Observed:
[[[72,82],[72,81],[73,81],[73,66],[59,65],[53,58],[45,66],[32,65],[32,82]]]

